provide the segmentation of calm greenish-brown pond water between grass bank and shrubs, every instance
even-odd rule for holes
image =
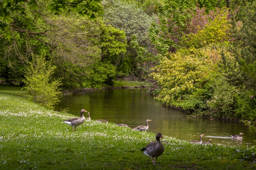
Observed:
[[[78,116],[80,110],[85,109],[93,120],[107,118],[108,122],[125,123],[132,128],[146,125],[146,120],[150,119],[148,131],[184,141],[199,140],[200,134],[204,134],[203,141],[212,139],[211,143],[215,144],[255,145],[256,132],[244,123],[187,118],[186,112],[164,108],[146,92],[146,89],[116,89],[68,93],[63,95],[55,109],[68,108],[69,113]],[[240,132],[244,134],[243,139],[231,139],[230,135]]]

